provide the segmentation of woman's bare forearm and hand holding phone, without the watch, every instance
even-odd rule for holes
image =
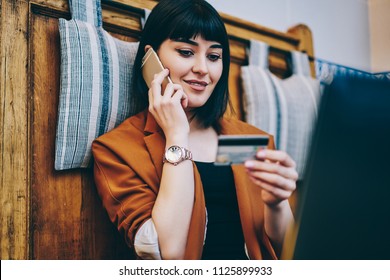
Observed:
[[[189,148],[190,127],[184,111],[188,105],[187,95],[178,84],[169,83],[165,89],[162,87],[168,73],[168,70],[163,70],[154,76],[149,89],[149,111],[164,131],[165,148],[172,145]],[[194,171],[189,160],[177,166],[163,165],[152,210],[163,259],[184,258],[195,195],[191,178],[194,178]],[[173,227],[175,230],[172,231]]]

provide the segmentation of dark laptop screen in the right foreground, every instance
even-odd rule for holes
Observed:
[[[390,259],[390,82],[323,94],[286,259]]]

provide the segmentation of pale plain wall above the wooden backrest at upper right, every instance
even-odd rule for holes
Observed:
[[[282,32],[298,23],[308,25],[313,33],[317,77],[331,69],[390,79],[389,0],[208,2],[221,12]]]

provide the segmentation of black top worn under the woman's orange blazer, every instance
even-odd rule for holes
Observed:
[[[231,166],[195,163],[202,179],[208,217],[202,259],[248,259]]]

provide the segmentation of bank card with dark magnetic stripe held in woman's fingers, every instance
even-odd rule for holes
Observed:
[[[220,135],[215,165],[242,164],[268,146],[267,135]]]

